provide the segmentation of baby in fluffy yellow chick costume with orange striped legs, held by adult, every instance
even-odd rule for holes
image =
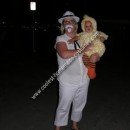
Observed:
[[[88,15],[84,15],[81,28],[83,32],[78,34],[81,47],[89,45],[90,43],[93,45],[90,51],[83,54],[82,59],[84,65],[88,68],[88,76],[90,79],[94,79],[96,77],[96,62],[99,61],[106,50],[103,42],[107,40],[108,35],[101,31],[97,31],[96,20]],[[97,36],[92,39],[95,33],[97,33]],[[99,57],[99,59],[96,57]]]

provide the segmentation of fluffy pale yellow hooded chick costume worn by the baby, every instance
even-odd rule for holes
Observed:
[[[86,21],[90,21],[92,23],[93,31],[90,33],[85,32],[84,24]],[[88,45],[91,42],[94,44],[93,49],[91,51],[85,52],[85,54],[90,57],[92,54],[98,53],[99,56],[101,57],[106,50],[104,43],[101,41],[101,38],[103,37],[104,40],[107,40],[108,35],[106,35],[103,32],[97,31],[96,20],[87,15],[84,16],[84,19],[81,22],[81,27],[82,27],[83,32],[78,34],[81,47],[84,45]],[[98,36],[92,41],[92,37],[95,34],[95,32],[98,32]]]

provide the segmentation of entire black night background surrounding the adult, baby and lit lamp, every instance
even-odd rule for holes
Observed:
[[[90,82],[81,130],[130,130],[128,2],[37,0],[35,12],[29,2],[0,1],[0,130],[53,129],[57,80],[35,100],[31,97],[57,71],[57,20],[66,10],[81,19],[84,14],[94,17],[98,30],[109,35],[97,77]]]

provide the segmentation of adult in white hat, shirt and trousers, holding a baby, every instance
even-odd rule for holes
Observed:
[[[69,43],[70,39],[77,34],[79,17],[71,11],[66,11],[62,18],[58,19],[61,24],[62,35],[57,36],[55,49],[59,68],[70,58],[74,57],[79,50],[80,43]],[[84,52],[90,50],[86,47]],[[59,103],[55,115],[55,130],[61,130],[62,126],[68,124],[68,115],[72,104],[72,130],[79,130],[77,123],[82,118],[82,111],[87,101],[89,77],[87,68],[82,61],[82,54],[79,55],[59,76]]]

